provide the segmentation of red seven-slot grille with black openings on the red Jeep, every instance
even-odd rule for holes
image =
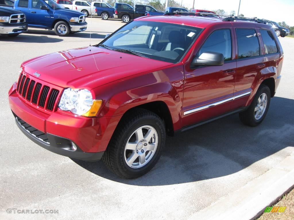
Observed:
[[[21,73],[17,81],[16,91],[19,97],[30,102],[30,104],[34,104],[35,107],[54,111],[61,88],[52,88],[41,82],[36,82],[36,80],[31,79],[29,75]]]

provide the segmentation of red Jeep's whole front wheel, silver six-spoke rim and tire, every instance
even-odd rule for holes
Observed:
[[[132,109],[114,131],[103,162],[122,178],[140,177],[159,160],[165,138],[164,122],[158,115],[145,109]]]

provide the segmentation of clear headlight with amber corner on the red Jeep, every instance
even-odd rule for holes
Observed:
[[[93,100],[92,94],[87,89],[64,89],[59,101],[59,108],[71,111],[74,114],[93,117],[96,116],[102,104],[102,100]]]

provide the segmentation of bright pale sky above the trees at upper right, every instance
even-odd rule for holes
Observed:
[[[181,0],[176,0],[181,2]],[[183,5],[192,8],[193,0],[183,0]],[[195,0],[195,9],[217,10],[238,13],[239,0]],[[241,0],[239,13],[245,17],[257,17],[275,22],[285,21],[294,26],[294,0]]]

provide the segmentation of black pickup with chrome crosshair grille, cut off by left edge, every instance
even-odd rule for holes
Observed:
[[[0,6],[0,35],[15,37],[26,31],[28,24],[22,11]]]

